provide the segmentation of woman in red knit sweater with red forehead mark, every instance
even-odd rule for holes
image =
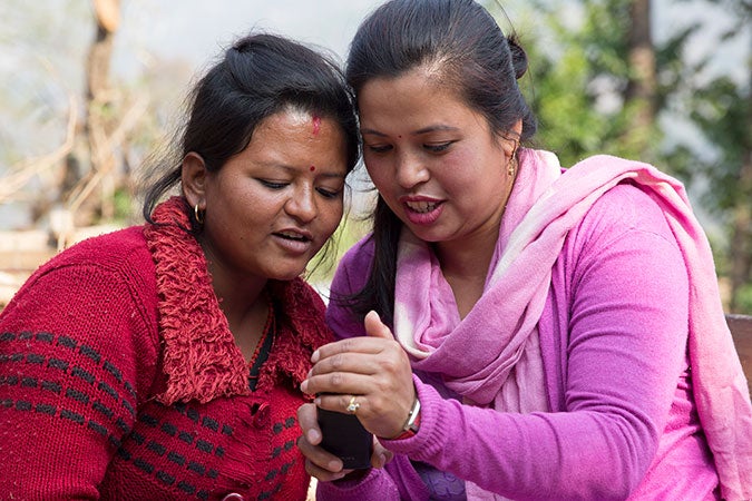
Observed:
[[[59,254],[0,315],[3,499],[305,499],[299,386],[330,333],[301,274],[342,217],[352,97],[251,35],[191,102],[147,223]]]

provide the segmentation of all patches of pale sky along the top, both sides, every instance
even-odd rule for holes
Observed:
[[[569,2],[551,1],[559,2],[561,13],[569,14],[573,22],[577,22],[579,16],[564,9]],[[344,58],[358,24],[380,3],[382,0],[121,0],[123,20],[116,39],[117,65],[120,71],[131,75],[137,71],[138,65],[145,63],[139,57],[155,55],[159,59],[183,59],[198,68],[218,55],[235,37],[252,28],[320,45]],[[524,7],[524,0],[501,3],[516,27],[523,28],[524,35],[536,31],[535,27],[525,26],[529,21],[525,19],[529,8]],[[723,16],[722,8],[712,9],[706,2],[693,0],[657,0],[653,8],[656,41],[691,22],[704,21],[706,36],[696,37],[690,47],[691,52],[697,56],[713,53],[712,47],[704,42],[717,37],[733,19]],[[535,36],[535,32],[527,35]],[[738,79],[746,78],[745,73],[741,73],[744,65],[739,62],[749,47],[744,47],[744,39],[740,41],[738,46],[724,46],[723,53],[713,53],[711,67],[724,72],[731,69],[732,73],[738,73]],[[118,48],[123,49],[118,51]]]

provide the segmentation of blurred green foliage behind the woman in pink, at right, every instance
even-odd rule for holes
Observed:
[[[662,37],[652,43],[655,119],[635,127],[644,102],[626,99],[636,71],[628,52],[633,3],[511,0],[505,6],[515,9],[509,27],[499,3],[486,2],[528,53],[520,85],[539,119],[535,146],[555,151],[564,166],[603,153],[654,164],[684,181],[701,220],[712,226],[707,233],[719,274],[730,284],[731,308],[752,313],[752,6],[695,0],[700,19],[660,27]],[[690,3],[666,0],[663,7],[676,11]],[[746,41],[745,59],[726,61],[727,72],[719,72],[720,55],[740,41]]]

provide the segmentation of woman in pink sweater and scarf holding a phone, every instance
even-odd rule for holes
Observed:
[[[389,1],[354,37],[379,198],[302,387],[378,441],[342,470],[302,406],[319,498],[749,499],[750,397],[683,187],[524,147],[526,69],[471,0]]]

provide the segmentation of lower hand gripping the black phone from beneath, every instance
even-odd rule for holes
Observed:
[[[321,446],[322,435],[315,404],[305,403],[297,409],[297,423],[303,430],[303,434],[297,439],[297,449],[305,456],[305,471],[311,477],[323,482],[330,482],[340,480],[353,472],[362,473],[361,470],[343,470],[342,461]],[[392,458],[393,453],[384,449],[374,438],[371,465],[383,468]]]

